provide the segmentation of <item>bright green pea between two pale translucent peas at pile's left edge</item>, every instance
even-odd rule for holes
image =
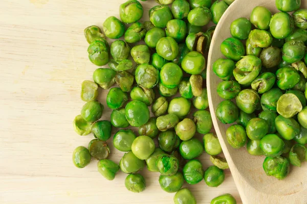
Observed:
[[[87,122],[95,122],[101,117],[103,109],[103,105],[98,100],[91,100],[83,105],[81,116]]]

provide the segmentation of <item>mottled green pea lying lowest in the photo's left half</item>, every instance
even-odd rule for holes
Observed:
[[[139,193],[145,190],[146,182],[139,173],[130,173],[125,179],[125,187],[128,191]]]

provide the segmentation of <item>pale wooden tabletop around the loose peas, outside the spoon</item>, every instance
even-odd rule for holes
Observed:
[[[74,148],[93,139],[77,135],[72,127],[84,104],[81,82],[92,80],[97,68],[87,58],[83,29],[102,27],[108,16],[119,17],[124,1],[0,1],[0,203],[173,203],[174,194],[160,188],[159,173],[145,169],[147,187],[137,194],[126,190],[123,172],[107,181],[96,161],[83,169],[72,163]],[[142,5],[148,19],[156,3]],[[103,119],[110,113],[106,93],[99,94]],[[123,152],[111,150],[110,158],[119,162]],[[200,160],[205,169],[211,165],[207,154]],[[202,181],[189,189],[198,203],[210,203],[223,193],[241,203],[229,170],[220,187]]]

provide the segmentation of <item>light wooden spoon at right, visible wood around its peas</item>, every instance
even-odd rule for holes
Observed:
[[[272,14],[278,12],[273,0],[236,0],[224,13],[220,23],[217,25],[210,52],[208,64],[212,67],[218,58],[224,58],[220,51],[220,45],[228,37],[231,37],[230,23],[239,17],[250,17],[250,13],[256,6],[265,6]],[[302,7],[307,8],[307,2],[302,1]],[[209,67],[209,66],[208,66]],[[207,72],[207,88],[210,110],[215,110],[223,100],[217,95],[216,87],[221,80],[210,71]],[[211,96],[211,97],[210,97]],[[278,181],[273,176],[267,176],[262,169],[264,156],[251,156],[246,148],[234,149],[226,139],[226,130],[230,125],[222,124],[211,111],[216,134],[220,139],[225,157],[229,163],[238,191],[243,203],[248,204],[284,204],[284,203],[307,203],[307,163],[302,167],[291,166],[290,174],[286,179]]]

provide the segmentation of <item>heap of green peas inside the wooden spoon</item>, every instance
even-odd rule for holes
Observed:
[[[228,143],[266,156],[264,171],[278,180],[289,174],[290,164],[300,167],[307,158],[307,9],[300,6],[276,0],[280,12],[274,15],[258,6],[250,19],[234,20],[232,37],[221,44],[226,59],[212,67],[223,80],[217,93],[225,99],[216,117],[236,123],[226,131]]]

